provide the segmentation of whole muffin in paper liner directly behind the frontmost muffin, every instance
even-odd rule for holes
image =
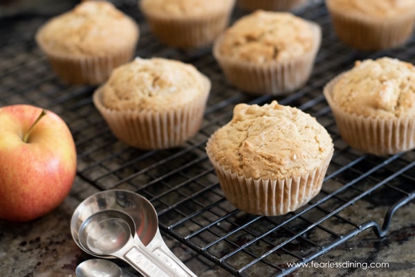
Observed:
[[[321,28],[289,12],[257,10],[214,42],[213,55],[228,81],[250,94],[287,94],[310,78]]]

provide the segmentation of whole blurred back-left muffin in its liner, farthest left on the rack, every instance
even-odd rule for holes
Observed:
[[[139,28],[107,1],[84,1],[46,21],[36,42],[55,73],[69,84],[102,84],[132,60]]]

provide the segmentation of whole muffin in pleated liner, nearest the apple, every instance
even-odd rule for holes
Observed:
[[[120,141],[165,149],[199,131],[209,93],[210,80],[191,64],[136,57],[114,69],[93,103]]]

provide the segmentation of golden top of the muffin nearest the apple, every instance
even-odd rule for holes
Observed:
[[[206,97],[210,80],[191,64],[161,57],[136,57],[114,69],[101,89],[102,104],[109,109],[166,111]]]

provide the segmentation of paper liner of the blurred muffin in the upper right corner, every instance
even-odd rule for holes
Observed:
[[[378,51],[404,44],[412,35],[415,11],[389,19],[358,16],[327,5],[336,35],[360,51]]]

